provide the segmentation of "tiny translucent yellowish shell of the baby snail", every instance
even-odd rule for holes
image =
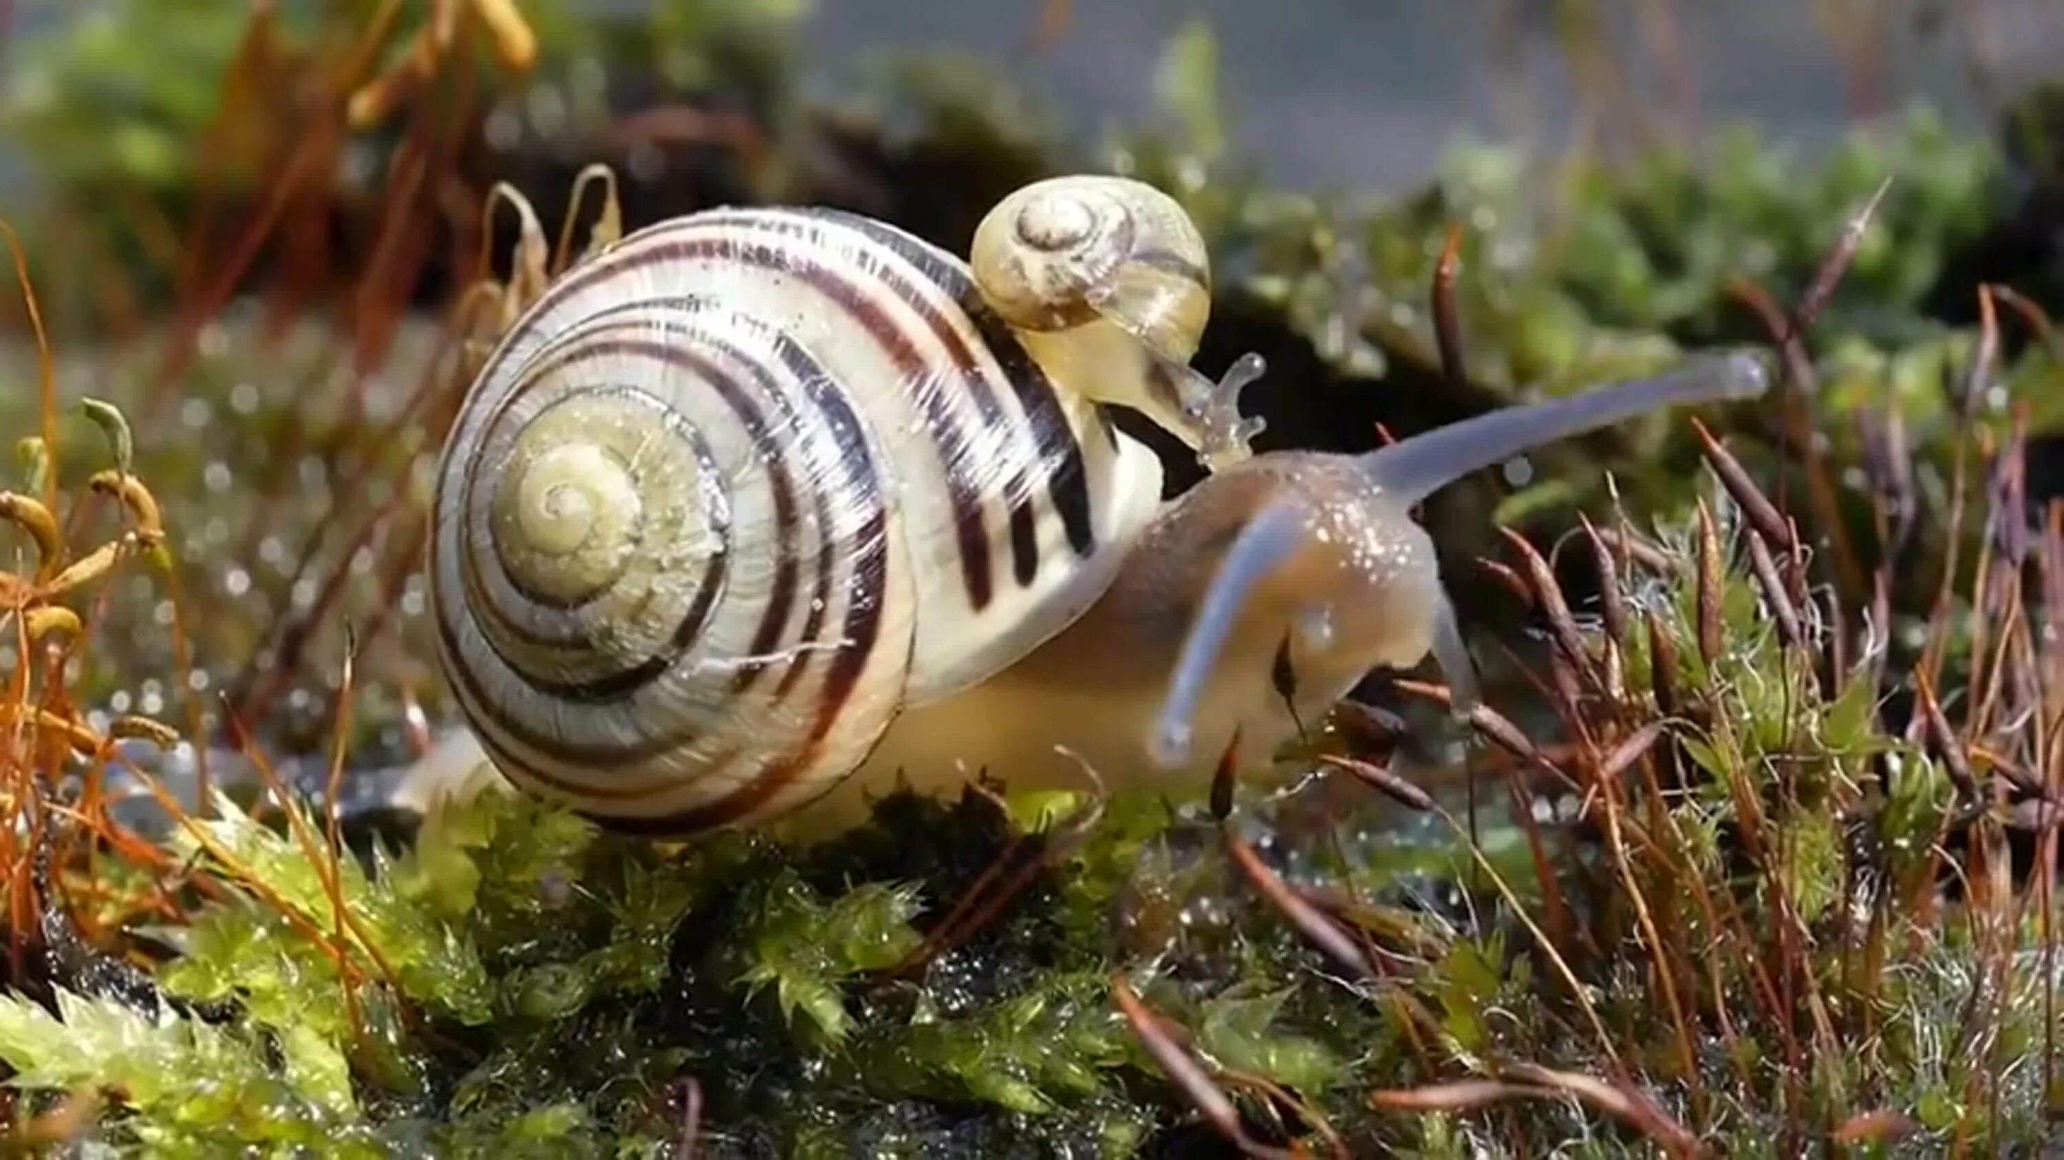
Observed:
[[[1034,182],[974,229],[982,295],[1030,332],[1110,322],[1172,363],[1197,353],[1212,310],[1203,235],[1183,206],[1127,178]]]

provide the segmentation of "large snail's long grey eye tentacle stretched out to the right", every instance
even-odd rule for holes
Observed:
[[[1463,475],[1542,444],[1610,427],[1662,407],[1754,398],[1769,390],[1761,357],[1703,355],[1659,374],[1567,398],[1486,411],[1362,456],[1362,469],[1391,502],[1412,506]]]

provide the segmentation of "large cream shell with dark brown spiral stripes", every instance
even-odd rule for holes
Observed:
[[[438,469],[444,671],[533,793],[753,821],[1073,621],[1158,500],[956,258],[698,213],[563,275],[475,380]]]

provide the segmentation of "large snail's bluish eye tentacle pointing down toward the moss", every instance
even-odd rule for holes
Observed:
[[[1189,636],[1168,681],[1168,698],[1148,739],[1148,755],[1158,766],[1176,768],[1189,762],[1203,689],[1212,683],[1220,654],[1247,611],[1247,597],[1304,545],[1307,526],[1296,502],[1278,500],[1257,512],[1226,549],[1189,623]]]

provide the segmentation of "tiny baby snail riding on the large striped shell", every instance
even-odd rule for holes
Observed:
[[[1249,353],[1214,384],[1189,365],[1212,270],[1174,198],[1125,178],[1036,182],[982,219],[970,264],[1057,382],[1143,413],[1214,471],[1249,458],[1261,419],[1240,415],[1240,392],[1265,367]]]

